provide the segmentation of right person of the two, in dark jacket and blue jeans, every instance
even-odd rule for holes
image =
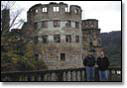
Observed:
[[[100,81],[108,81],[108,77],[109,77],[109,71],[108,71],[109,60],[104,55],[104,52],[101,52],[101,56],[97,58],[97,65],[98,65],[98,69],[99,69],[99,79],[100,79]]]

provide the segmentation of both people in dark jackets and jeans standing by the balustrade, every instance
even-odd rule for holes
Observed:
[[[99,80],[108,81],[109,60],[104,55],[104,52],[100,53],[100,57],[97,58],[97,61],[92,53],[89,53],[89,55],[83,60],[83,64],[86,68],[87,81],[95,81],[95,64],[97,64],[99,70]]]

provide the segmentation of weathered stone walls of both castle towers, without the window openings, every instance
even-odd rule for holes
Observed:
[[[53,12],[54,7],[59,7],[59,11]],[[42,12],[42,8],[47,8],[47,12]],[[68,8],[69,11],[66,12],[65,8]],[[100,49],[98,20],[82,21],[81,15],[80,6],[71,5],[69,7],[65,3],[37,4],[27,12],[27,26],[23,30],[27,33],[29,29],[32,29],[29,35],[39,37],[37,46],[40,51],[40,59],[44,60],[48,69],[80,68],[83,67],[83,58],[91,48],[96,50],[96,55],[98,54]],[[59,27],[53,26],[54,20],[60,22]],[[70,27],[66,26],[68,20],[71,21]],[[46,28],[41,27],[42,21],[47,22]],[[76,28],[76,22],[79,23],[78,28]],[[56,34],[60,35],[59,43],[54,42]],[[47,43],[42,42],[43,35],[48,36]],[[66,35],[71,35],[70,43],[66,41]],[[76,35],[79,36],[79,42],[76,42]],[[90,38],[92,38],[92,46],[90,46]],[[61,53],[65,54],[65,60],[61,60]]]

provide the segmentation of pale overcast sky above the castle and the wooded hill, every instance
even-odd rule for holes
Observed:
[[[23,8],[21,18],[27,18],[28,9],[38,3],[48,4],[52,1],[17,1],[13,8]],[[98,19],[101,32],[121,30],[121,2],[120,1],[53,1],[65,2],[69,5],[79,5],[82,19]]]

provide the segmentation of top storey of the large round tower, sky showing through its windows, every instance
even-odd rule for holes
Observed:
[[[39,20],[81,20],[82,9],[77,5],[60,2],[49,4],[36,4],[27,12],[28,21]],[[33,20],[31,20],[33,19]]]

